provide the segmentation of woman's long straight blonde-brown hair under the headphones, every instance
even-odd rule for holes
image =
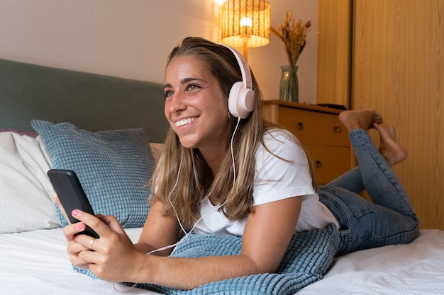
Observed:
[[[204,62],[219,84],[221,98],[226,100],[226,156],[214,176],[201,156],[199,149],[187,149],[170,128],[165,147],[152,177],[155,187],[154,199],[162,202],[162,212],[169,216],[177,213],[184,226],[192,227],[198,219],[199,205],[206,197],[211,202],[223,204],[220,210],[230,220],[247,216],[253,205],[252,190],[255,180],[255,151],[263,144],[263,134],[271,128],[262,119],[262,94],[252,76],[255,90],[255,108],[250,117],[240,120],[233,137],[233,161],[230,152],[231,136],[238,118],[228,113],[228,93],[236,81],[242,81],[240,67],[233,52],[200,37],[187,37],[182,45],[175,47],[168,57],[167,65],[175,57],[190,56]],[[180,167],[180,173],[179,173]],[[173,207],[174,206],[174,207]]]

